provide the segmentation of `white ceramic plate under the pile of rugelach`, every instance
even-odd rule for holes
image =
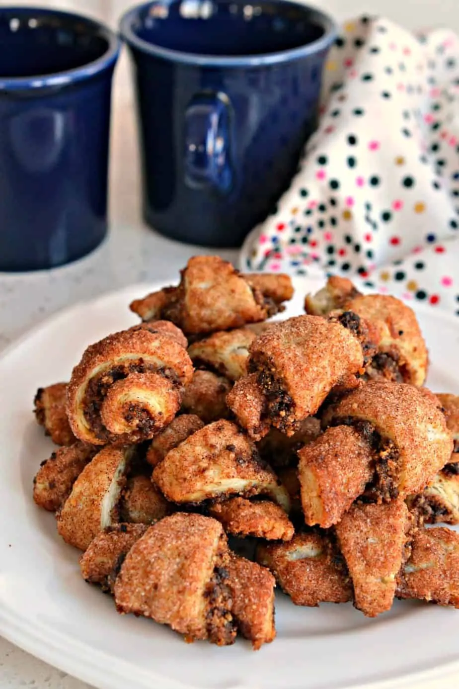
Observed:
[[[302,288],[288,315],[301,312]],[[89,343],[136,322],[127,305],[147,289],[68,309],[0,360],[0,633],[101,689],[450,686],[447,677],[459,677],[456,610],[396,601],[370,620],[350,604],[297,608],[279,593],[277,639],[253,652],[240,639],[227,648],[185,644],[169,628],[118,615],[111,597],[83,582],[78,552],[32,501],[32,477],[52,451],[32,417],[32,398],[37,387],[67,380]],[[429,384],[459,391],[459,322],[433,309],[418,315],[431,352]]]

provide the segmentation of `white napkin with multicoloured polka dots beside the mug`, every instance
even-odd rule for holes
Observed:
[[[459,38],[345,23],[319,129],[242,269],[349,276],[459,315]]]

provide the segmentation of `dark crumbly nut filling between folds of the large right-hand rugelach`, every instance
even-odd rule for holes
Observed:
[[[362,438],[370,445],[374,461],[374,476],[367,484],[363,495],[368,502],[390,502],[398,497],[400,467],[398,466],[398,449],[389,438],[383,438],[368,421],[354,418],[335,420],[335,426],[353,426]]]

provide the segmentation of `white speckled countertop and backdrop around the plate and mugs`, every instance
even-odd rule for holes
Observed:
[[[10,4],[85,12],[116,26],[121,12],[131,3],[126,0],[0,0],[0,7]],[[338,20],[365,12],[385,14],[411,29],[448,26],[459,32],[459,0],[325,0],[317,4]],[[156,235],[140,220],[136,132],[125,54],[118,65],[114,88],[110,178],[111,234],[92,256],[72,266],[44,273],[13,276],[0,273],[0,349],[48,313],[78,300],[133,282],[169,280],[197,251]],[[228,258],[236,255],[231,251],[220,253]],[[38,591],[36,593],[39,595]],[[37,689],[87,687],[0,638],[0,688],[25,686]],[[444,683],[442,689],[447,689]]]

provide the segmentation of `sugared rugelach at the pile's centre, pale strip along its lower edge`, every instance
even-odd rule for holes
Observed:
[[[284,486],[235,424],[220,420],[193,433],[153,470],[167,500],[200,503],[230,495],[269,495],[289,507]]]

